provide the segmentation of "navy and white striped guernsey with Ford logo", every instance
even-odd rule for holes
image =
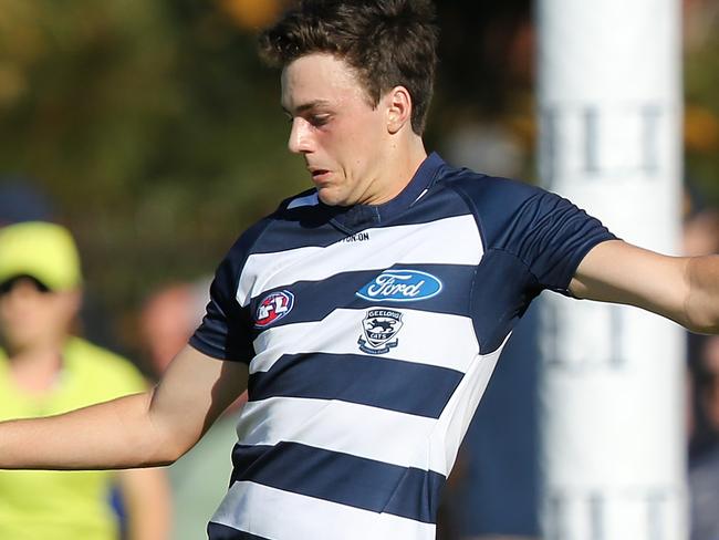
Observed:
[[[284,201],[220,264],[190,341],[250,370],[210,539],[434,539],[513,325],[612,238],[554,194],[436,154],[384,205]]]

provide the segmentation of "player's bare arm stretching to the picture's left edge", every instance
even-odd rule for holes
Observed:
[[[45,418],[0,423],[0,468],[123,469],[189,450],[247,387],[248,366],[186,346],[153,390]]]

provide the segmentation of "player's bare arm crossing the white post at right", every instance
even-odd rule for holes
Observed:
[[[622,240],[595,246],[570,291],[643,308],[701,333],[719,333],[719,256],[669,257]]]

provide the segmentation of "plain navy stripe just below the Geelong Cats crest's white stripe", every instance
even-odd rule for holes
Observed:
[[[386,357],[340,354],[284,355],[268,372],[250,375],[250,401],[268,397],[340,399],[439,418],[462,373]],[[417,392],[431,388],[431,392]]]

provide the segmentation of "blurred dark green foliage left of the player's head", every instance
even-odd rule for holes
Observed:
[[[308,187],[277,76],[212,4],[0,0],[2,172],[51,194],[122,309]]]

